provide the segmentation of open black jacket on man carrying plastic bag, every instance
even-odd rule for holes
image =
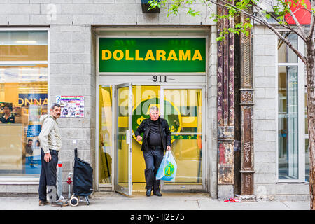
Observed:
[[[142,138],[142,146],[141,151],[148,151],[148,133],[150,132],[150,119],[147,118],[142,120],[140,126],[137,128],[134,135],[137,137],[138,135],[141,135],[144,133],[144,137]],[[159,118],[160,120],[160,134],[162,139],[162,146],[163,149],[166,150],[167,146],[171,146],[171,131],[169,130],[169,124],[167,123],[167,120],[163,118]]]

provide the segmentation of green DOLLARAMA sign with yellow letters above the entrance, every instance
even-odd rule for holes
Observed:
[[[99,38],[99,72],[205,72],[205,38]]]

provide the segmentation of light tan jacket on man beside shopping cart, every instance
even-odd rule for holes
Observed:
[[[44,153],[50,153],[50,149],[60,151],[62,141],[56,119],[51,115],[42,115],[39,121],[42,126],[38,139]]]

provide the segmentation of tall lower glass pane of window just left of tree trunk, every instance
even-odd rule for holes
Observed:
[[[279,66],[279,179],[298,179],[297,66]]]

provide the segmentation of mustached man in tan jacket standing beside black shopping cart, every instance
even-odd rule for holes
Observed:
[[[40,118],[41,133],[39,141],[41,143],[41,176],[39,178],[39,205],[52,204],[52,206],[67,205],[61,202],[57,195],[57,163],[58,153],[62,146],[62,141],[57,126],[57,118],[60,117],[61,106],[52,104],[49,115]],[[46,200],[46,186],[50,195],[50,203]],[[52,198],[51,198],[52,197]]]

